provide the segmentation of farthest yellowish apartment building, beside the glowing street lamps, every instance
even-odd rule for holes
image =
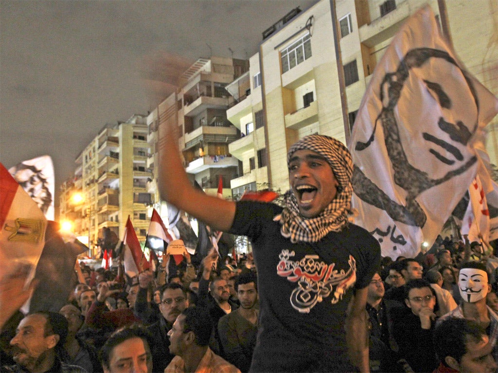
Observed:
[[[76,235],[88,237],[92,245],[103,238],[104,228],[123,239],[128,216],[138,239],[145,240],[147,208],[154,202],[147,188],[153,174],[146,118],[135,114],[105,125],[76,159],[74,180],[62,186],[61,219],[72,220]],[[73,199],[76,193],[81,201]]]

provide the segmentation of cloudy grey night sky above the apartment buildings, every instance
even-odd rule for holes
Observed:
[[[146,114],[158,87],[171,90],[150,79],[199,57],[249,59],[266,28],[315,2],[1,0],[1,163],[48,154],[57,190],[106,123]]]

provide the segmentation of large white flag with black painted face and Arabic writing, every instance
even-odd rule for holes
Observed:
[[[399,29],[375,67],[353,127],[353,207],[382,256],[431,244],[476,176],[498,100],[439,35],[430,7]]]

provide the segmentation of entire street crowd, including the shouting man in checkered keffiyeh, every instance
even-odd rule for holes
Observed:
[[[213,248],[196,266],[184,250],[176,272],[163,261],[134,278],[77,262],[59,312],[10,314],[37,284],[4,277],[2,372],[497,371],[496,241],[438,238],[416,258],[381,258],[349,220],[351,155],[328,136],[289,149],[285,207],[195,189],[162,138],[161,198],[248,236],[252,252]]]

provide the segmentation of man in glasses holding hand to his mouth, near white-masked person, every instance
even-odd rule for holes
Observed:
[[[409,311],[396,315],[393,322],[399,358],[404,359],[413,372],[432,372],[438,366],[432,341],[436,295],[426,280],[410,280],[404,288]]]

